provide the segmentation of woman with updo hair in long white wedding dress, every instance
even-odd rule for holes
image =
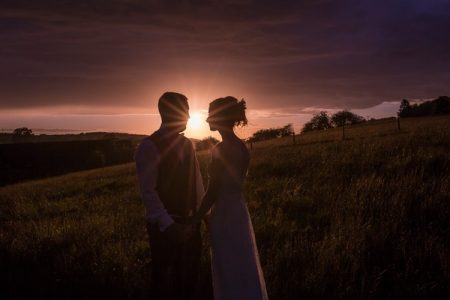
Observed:
[[[212,150],[209,185],[194,216],[208,216],[215,300],[268,299],[250,215],[242,194],[250,155],[233,128],[246,125],[245,101],[234,97],[214,100],[207,122],[222,142]]]

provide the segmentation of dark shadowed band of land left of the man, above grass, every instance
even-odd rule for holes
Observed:
[[[118,139],[0,144],[0,186],[131,162],[135,148]]]

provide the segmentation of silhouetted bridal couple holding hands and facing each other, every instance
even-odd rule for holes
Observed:
[[[211,245],[215,300],[268,299],[252,222],[242,194],[250,155],[234,133],[246,125],[244,100],[212,101],[207,122],[222,142],[211,151],[206,192],[192,142],[181,133],[189,119],[186,96],[158,101],[161,126],[136,151],[151,250],[151,299],[198,299],[205,221]]]

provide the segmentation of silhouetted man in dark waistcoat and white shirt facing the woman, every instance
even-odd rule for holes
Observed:
[[[180,134],[189,119],[187,98],[166,92],[158,110],[161,127],[135,156],[150,240],[151,299],[195,299],[201,236],[189,218],[204,189],[192,143]]]

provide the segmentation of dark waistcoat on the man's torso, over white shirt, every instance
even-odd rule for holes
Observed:
[[[156,191],[170,215],[187,217],[196,211],[196,174],[194,149],[182,135],[165,138],[156,131],[148,137],[158,149],[158,176]],[[180,161],[174,148],[183,149]]]

